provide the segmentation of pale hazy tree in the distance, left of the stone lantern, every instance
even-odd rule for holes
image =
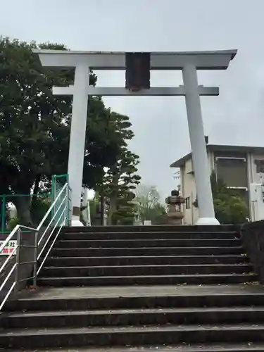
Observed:
[[[161,203],[161,196],[154,186],[139,184],[134,199],[137,204],[137,214],[141,222],[151,220],[153,225],[166,223],[166,208]]]

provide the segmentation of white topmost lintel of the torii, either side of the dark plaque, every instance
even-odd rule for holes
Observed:
[[[94,70],[125,70],[125,52],[33,50],[42,65],[51,68],[73,68],[87,61]],[[197,70],[226,70],[237,50],[151,52],[151,70],[182,70],[187,63]]]

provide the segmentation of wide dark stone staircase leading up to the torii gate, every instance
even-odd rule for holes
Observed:
[[[234,227],[66,228],[0,349],[264,352],[264,289]]]

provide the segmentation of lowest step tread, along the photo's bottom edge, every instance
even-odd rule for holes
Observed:
[[[6,349],[6,351],[11,351]],[[38,352],[47,352],[45,349],[39,349]],[[77,347],[77,348],[49,348],[48,352],[247,352],[258,351],[264,352],[264,344],[246,342],[244,344],[178,344],[178,345],[156,345],[156,346],[122,346],[122,347]],[[25,350],[12,350],[12,352],[25,352]],[[36,350],[29,350],[27,352],[36,352]]]

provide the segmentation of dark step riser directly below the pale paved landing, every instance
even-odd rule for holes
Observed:
[[[132,291],[134,287],[127,287]],[[177,288],[177,287],[176,287]],[[76,289],[85,289],[76,287]],[[94,288],[96,290],[96,288]],[[52,289],[50,289],[52,291]],[[89,309],[143,309],[143,308],[232,308],[232,306],[264,306],[264,294],[192,294],[185,296],[65,296],[67,290],[63,291],[61,297],[48,296],[48,298],[26,298],[18,301],[8,301],[6,311],[39,311],[39,310],[89,310]],[[195,287],[194,287],[195,290]],[[221,287],[219,287],[221,291]],[[140,289],[139,289],[140,291]]]

